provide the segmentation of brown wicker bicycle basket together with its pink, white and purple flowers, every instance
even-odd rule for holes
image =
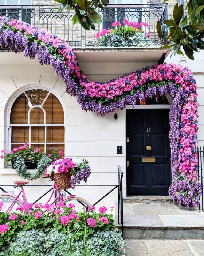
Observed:
[[[64,158],[57,159],[48,165],[45,174],[54,178],[59,190],[74,188],[76,183],[87,181],[91,173],[90,166],[86,159]]]

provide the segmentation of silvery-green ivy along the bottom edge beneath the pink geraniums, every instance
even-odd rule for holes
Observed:
[[[85,249],[83,239],[74,241],[74,236],[55,229],[48,233],[36,229],[21,231],[0,256],[122,256],[125,253],[126,244],[115,230],[96,232],[86,240]]]

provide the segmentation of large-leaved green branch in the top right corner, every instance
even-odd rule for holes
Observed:
[[[166,1],[168,0],[164,0]],[[164,48],[173,49],[174,55],[183,55],[183,48],[187,57],[194,60],[194,52],[204,49],[204,0],[189,0],[186,8],[188,15],[182,19],[183,5],[178,6],[177,3],[173,19],[165,20],[163,29],[157,22],[157,33]]]

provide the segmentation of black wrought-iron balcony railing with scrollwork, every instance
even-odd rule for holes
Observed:
[[[72,17],[75,12],[64,11],[63,15],[61,15],[57,11],[58,8],[59,5],[0,5],[0,16],[26,21],[35,27],[45,29],[60,38],[66,39],[73,48],[137,46],[134,41],[157,44],[157,20],[162,24],[167,19],[167,4],[109,4],[103,11],[99,11],[102,23],[95,26],[96,30],[84,30],[79,23],[73,25]],[[147,23],[149,26],[140,26],[144,33],[138,33],[136,37],[131,34],[133,33],[132,30],[128,31],[130,38],[128,40],[124,39],[123,31],[118,35],[119,39],[115,37],[106,38],[105,44],[100,41],[100,37],[99,39],[96,38],[97,32],[102,31],[102,29],[110,29],[113,22],[118,21],[125,27],[124,19],[133,23]],[[148,37],[145,36],[147,33]],[[117,43],[118,41],[120,42],[119,44]]]

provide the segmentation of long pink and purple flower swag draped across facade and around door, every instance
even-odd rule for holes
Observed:
[[[172,184],[169,195],[185,207],[199,205],[201,184],[197,175],[197,86],[191,71],[176,64],[146,67],[107,83],[92,82],[79,68],[76,57],[64,39],[25,22],[0,17],[0,49],[24,52],[42,65],[52,65],[83,110],[104,116],[115,109],[147,97],[169,93]]]

